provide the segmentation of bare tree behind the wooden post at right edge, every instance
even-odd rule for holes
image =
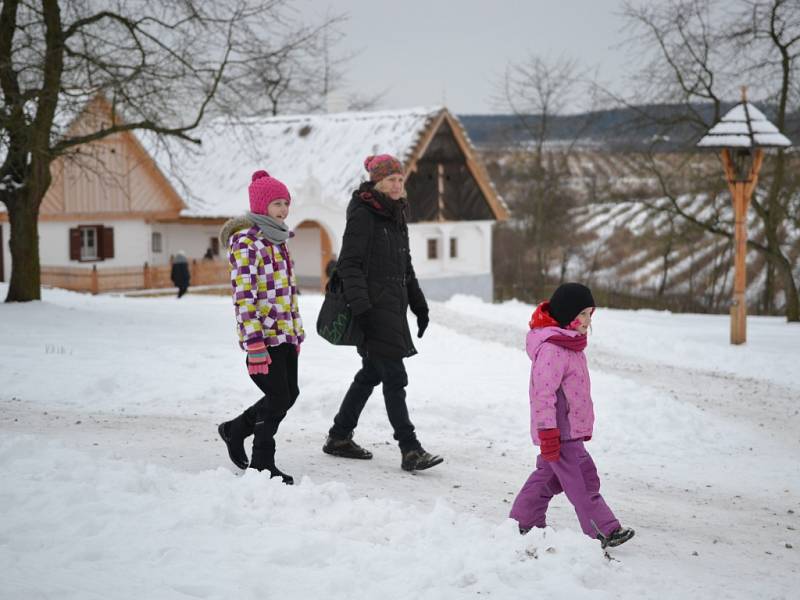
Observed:
[[[790,118],[800,98],[798,0],[628,3],[625,15],[635,32],[633,41],[646,58],[636,81],[637,93],[626,102],[683,106],[681,112],[668,118],[642,111],[642,120],[659,122],[665,133],[685,132],[684,148],[693,151],[696,139],[720,118],[723,100],[735,98],[739,86],[749,83],[751,98],[773,107],[775,125],[790,138],[798,139],[800,127]],[[787,224],[795,218],[800,202],[800,181],[794,170],[787,168],[788,160],[787,153],[779,150],[774,159],[765,163],[752,200],[763,236],[751,238],[748,245],[767,261],[764,307],[772,306],[779,279],[786,317],[798,321],[800,296],[795,261],[786,242]],[[679,194],[672,185],[676,173],[664,171],[656,161],[652,165],[664,196],[670,200],[667,210],[714,235],[733,237],[731,223],[687,211],[678,202]],[[723,194],[727,196],[727,192]],[[658,209],[663,210],[664,205]]]

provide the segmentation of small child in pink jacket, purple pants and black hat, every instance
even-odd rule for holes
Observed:
[[[550,499],[561,492],[575,507],[583,532],[603,548],[633,537],[600,495],[600,478],[584,442],[592,437],[594,409],[586,366],[586,332],[594,313],[592,292],[579,283],[558,287],[530,322],[531,437],[541,453],[511,507],[520,533],[544,527]]]

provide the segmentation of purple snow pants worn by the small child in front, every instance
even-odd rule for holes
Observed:
[[[562,441],[561,457],[556,462],[546,461],[541,454],[536,458],[536,470],[517,494],[509,516],[523,528],[544,527],[547,505],[561,492],[567,494],[581,529],[592,539],[620,526],[600,495],[597,467],[583,440]]]

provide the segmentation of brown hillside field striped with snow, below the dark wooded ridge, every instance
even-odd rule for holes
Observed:
[[[606,306],[651,307],[678,311],[725,312],[733,285],[733,242],[708,233],[676,217],[665,196],[654,165],[667,173],[670,191],[687,214],[700,222],[732,230],[730,195],[716,153],[696,153],[687,162],[685,152],[659,153],[561,148],[545,152],[545,167],[559,182],[552,198],[568,206],[566,225],[550,227],[541,243],[524,237],[524,228],[536,215],[535,172],[525,165],[528,152],[483,146],[481,157],[511,211],[511,219],[495,231],[493,267],[496,297],[529,302],[540,299],[543,285],[534,280],[535,260],[547,261],[549,284],[580,279],[602,290]],[[762,176],[773,162],[766,161]],[[790,157],[787,170],[800,173],[800,153]],[[532,174],[533,173],[533,174]],[[789,181],[788,193],[800,195],[800,185]],[[551,188],[553,189],[553,188]],[[756,190],[762,196],[763,187]],[[798,200],[800,201],[800,200]],[[547,219],[545,208],[541,209]],[[749,239],[764,244],[763,221],[748,213]],[[781,244],[800,281],[800,224],[787,218]],[[782,283],[767,297],[768,265],[765,255],[747,255],[749,310],[780,314],[785,305]]]

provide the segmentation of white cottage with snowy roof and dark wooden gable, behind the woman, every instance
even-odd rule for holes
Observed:
[[[184,220],[241,214],[252,172],[266,169],[292,193],[290,245],[301,285],[318,288],[341,245],[351,193],[366,178],[364,159],[393,154],[407,169],[411,254],[426,295],[492,299],[492,226],[507,210],[447,109],[220,122],[200,135],[202,154],[184,165]]]

